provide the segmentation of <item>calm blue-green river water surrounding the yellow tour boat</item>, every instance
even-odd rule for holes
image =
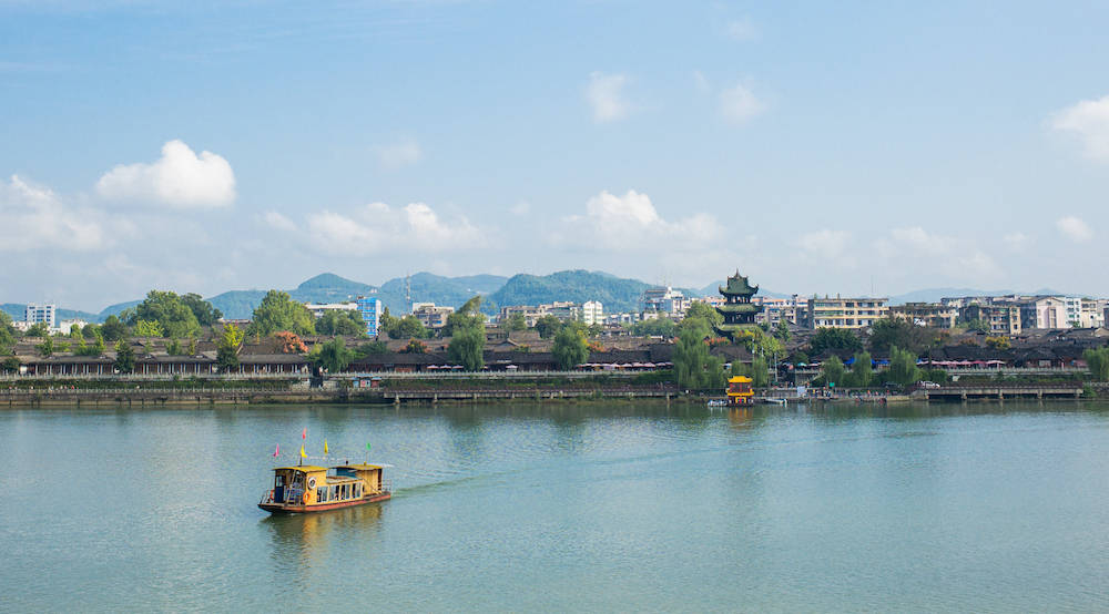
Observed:
[[[305,427],[393,501],[255,508]],[[1109,610],[1107,405],[11,410],[0,449],[3,611]]]

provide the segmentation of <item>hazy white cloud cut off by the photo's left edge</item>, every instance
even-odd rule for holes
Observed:
[[[50,188],[16,175],[0,180],[0,252],[85,252],[111,243],[101,212],[69,205]],[[114,231],[126,234],[130,228],[120,222]]]

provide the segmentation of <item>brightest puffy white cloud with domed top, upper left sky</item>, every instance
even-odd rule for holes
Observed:
[[[223,156],[174,140],[153,163],[120,164],[96,182],[104,198],[150,202],[180,208],[221,207],[235,201],[235,173]]]

